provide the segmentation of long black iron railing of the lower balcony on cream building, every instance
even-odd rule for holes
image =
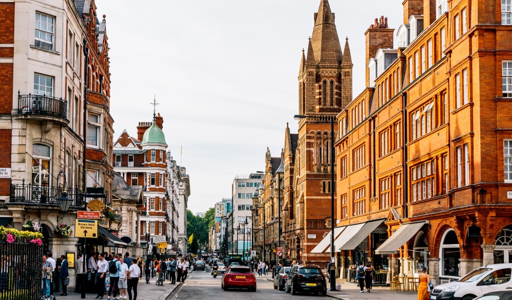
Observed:
[[[11,184],[10,203],[32,203],[32,204],[50,204],[58,205],[57,199],[62,196],[63,187],[40,186],[33,184],[13,185]],[[66,190],[68,197],[73,199],[71,207],[83,206],[83,194],[80,188],[68,188]]]

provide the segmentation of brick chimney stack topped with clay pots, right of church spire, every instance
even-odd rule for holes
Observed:
[[[407,0],[406,0],[407,1]],[[394,29],[388,28],[388,18],[381,16],[375,18],[374,25],[365,32],[366,36],[366,61],[368,64],[370,58],[375,57],[379,49],[393,48]],[[366,86],[370,85],[370,71],[366,66]]]

